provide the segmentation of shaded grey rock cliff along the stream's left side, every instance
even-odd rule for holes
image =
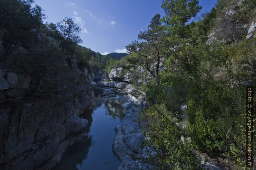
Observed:
[[[94,105],[91,77],[74,56],[65,65],[74,73],[72,85],[51,88],[48,100],[30,95],[42,85],[34,75],[0,69],[0,169],[50,169],[68,145],[87,135],[88,120],[79,116]],[[42,79],[51,84],[50,75]]]

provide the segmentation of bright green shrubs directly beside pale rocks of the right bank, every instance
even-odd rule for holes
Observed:
[[[168,112],[164,104],[153,105],[140,116],[143,134],[147,140],[143,146],[154,149],[154,155],[141,158],[143,163],[152,165],[157,170],[203,169],[183,129],[176,125],[177,119]],[[184,137],[184,143],[181,140]]]

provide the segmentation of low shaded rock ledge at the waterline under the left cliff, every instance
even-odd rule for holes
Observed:
[[[14,157],[8,162],[3,163],[5,157],[1,158],[2,162],[0,164],[0,168],[8,170],[43,170],[51,168],[59,161],[61,153],[64,152],[65,148],[68,145],[74,144],[77,139],[75,135],[86,130],[87,124],[87,120],[81,119],[77,115],[72,114],[66,121],[59,125],[59,128],[57,128],[54,133],[47,135],[45,138],[36,140],[35,142],[33,142],[33,140],[35,140],[33,138],[27,140],[26,143],[20,142],[18,143],[20,147],[18,150],[15,150],[14,148],[9,150],[6,149],[5,151],[8,151],[8,154],[10,155],[15,155],[16,153],[22,152],[22,150],[25,151],[22,152],[18,157]],[[36,125],[34,124],[34,126]],[[86,133],[83,135],[86,135]],[[69,140],[66,140],[67,136],[69,137]],[[20,136],[18,139],[22,137],[24,136]],[[10,145],[14,147],[15,143],[16,142],[12,142]],[[29,150],[26,150],[27,148],[29,148]],[[44,165],[41,167],[35,166],[43,162]]]

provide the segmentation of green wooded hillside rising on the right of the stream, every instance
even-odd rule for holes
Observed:
[[[144,146],[156,154],[138,159],[161,170],[202,169],[200,152],[226,168],[249,169],[245,97],[246,86],[256,87],[256,1],[218,0],[196,20],[197,0],[164,0],[161,7],[165,15],[156,14],[126,46],[130,54],[106,67],[131,72],[150,104],[140,121]]]

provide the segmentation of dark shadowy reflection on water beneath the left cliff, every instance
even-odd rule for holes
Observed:
[[[92,146],[92,137],[85,136],[69,146],[64,152],[61,161],[52,170],[77,170],[77,165],[82,165],[87,158],[89,148]]]

